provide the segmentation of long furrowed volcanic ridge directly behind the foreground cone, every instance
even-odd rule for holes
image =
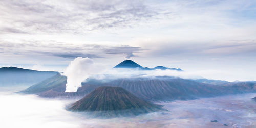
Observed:
[[[77,92],[67,93],[66,76],[60,74],[26,89],[25,93],[37,94],[41,97],[79,98],[89,94],[97,87],[122,87],[135,96],[151,101],[187,100],[201,97],[215,97],[227,94],[240,94],[256,92],[256,83],[231,82],[224,86],[204,84],[191,80],[156,77],[156,78],[123,78],[113,80],[88,79],[82,83]]]

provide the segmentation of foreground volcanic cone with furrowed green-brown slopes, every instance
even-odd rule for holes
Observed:
[[[94,117],[116,117],[135,116],[162,108],[134,96],[121,87],[103,86],[76,101],[69,110],[91,112]]]

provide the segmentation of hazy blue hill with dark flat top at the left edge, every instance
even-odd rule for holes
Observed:
[[[0,68],[0,87],[28,86],[56,75],[54,71],[36,71],[17,67]]]

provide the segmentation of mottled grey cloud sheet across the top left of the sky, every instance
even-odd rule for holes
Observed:
[[[86,34],[160,15],[143,1],[2,1],[1,33]]]

